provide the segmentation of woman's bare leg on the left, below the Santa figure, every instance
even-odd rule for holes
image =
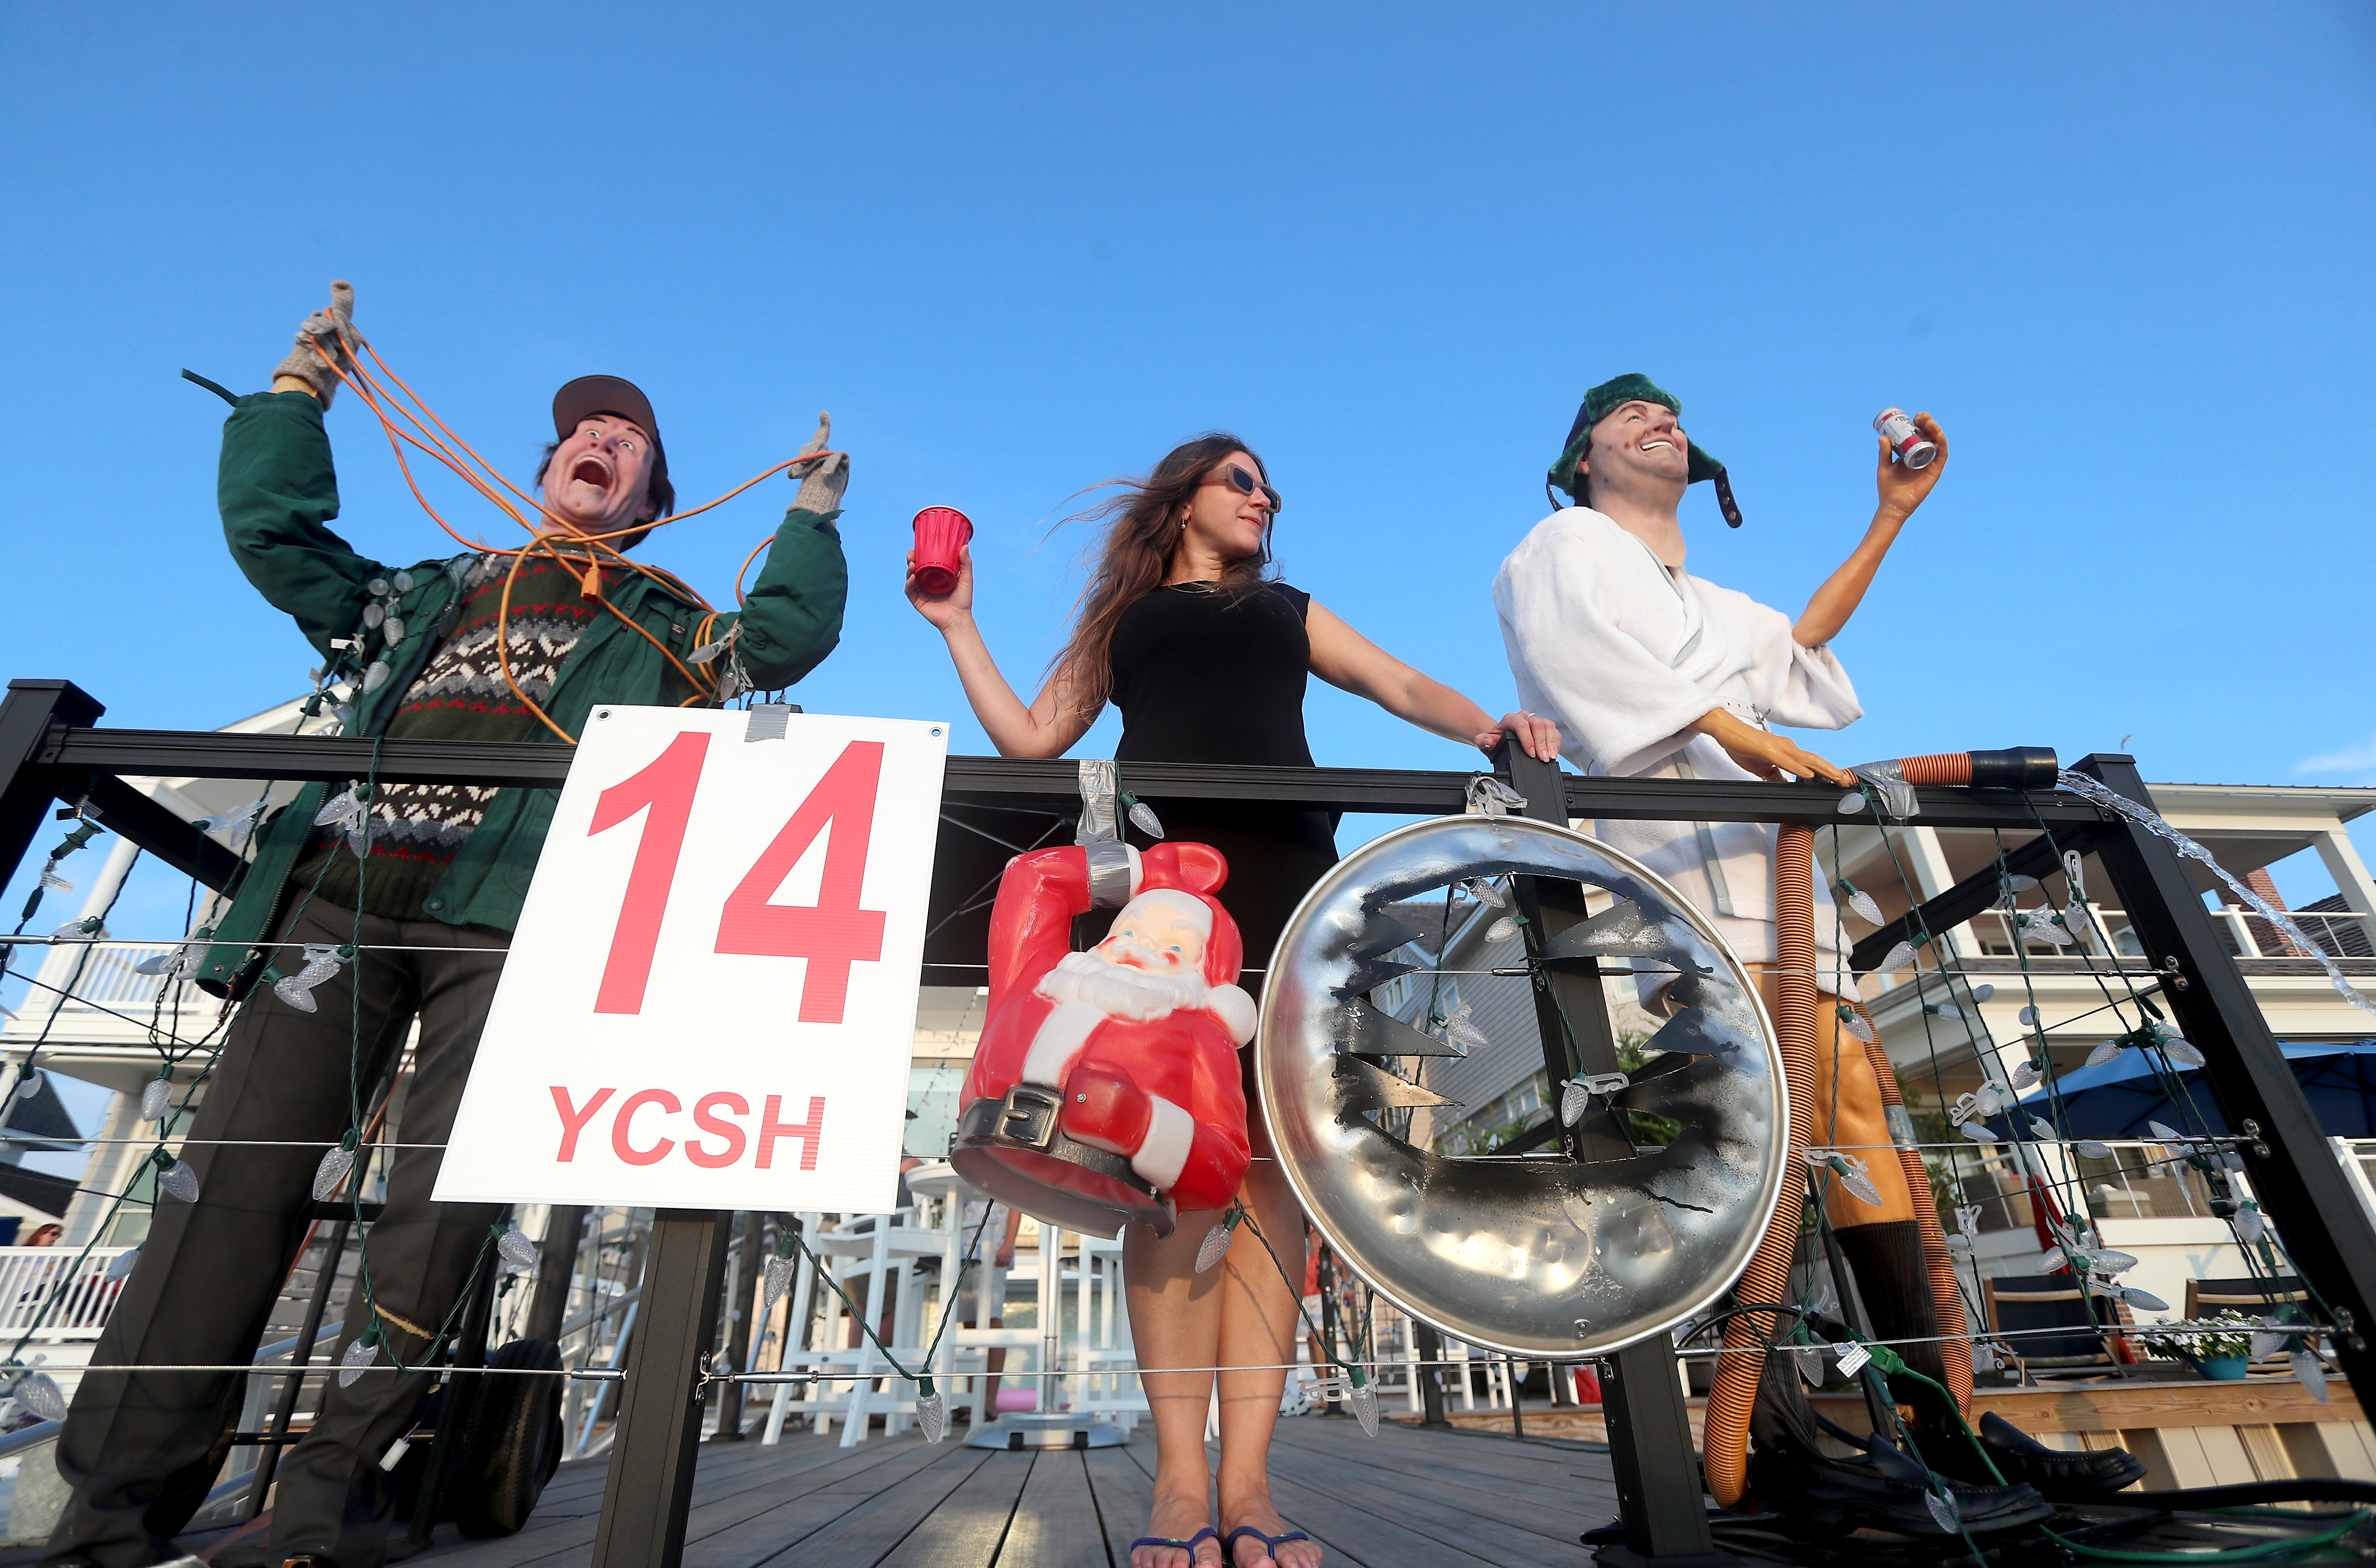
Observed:
[[[1121,1233],[1121,1292],[1131,1307],[1131,1345],[1138,1380],[1155,1414],[1155,1511],[1148,1535],[1188,1539],[1212,1523],[1212,1473],[1205,1468],[1205,1411],[1212,1404],[1212,1371],[1162,1371],[1167,1366],[1212,1368],[1221,1349],[1221,1271],[1195,1271],[1205,1233],[1219,1214],[1181,1214],[1169,1240],[1145,1226]],[[1198,1563],[1219,1563],[1212,1542]],[[1188,1568],[1174,1547],[1131,1551],[1131,1568]]]

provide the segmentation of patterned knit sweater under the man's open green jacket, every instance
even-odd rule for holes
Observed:
[[[604,584],[627,568],[606,565]],[[387,725],[390,739],[525,741],[537,715],[504,684],[494,634],[511,556],[480,556],[461,584],[454,630]],[[511,679],[535,701],[554,689],[561,663],[604,608],[584,596],[577,573],[532,556],[511,582],[504,646]],[[492,789],[475,784],[383,784],[371,813],[371,862],[345,836],[323,832],[292,872],[297,886],[340,908],[385,919],[425,919],[421,903],[454,865],[470,829],[487,815]],[[316,884],[314,877],[321,877]]]

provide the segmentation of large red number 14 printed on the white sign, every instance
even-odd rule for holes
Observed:
[[[710,736],[684,732],[632,779],[601,791],[587,834],[601,834],[637,813],[644,836],[634,846],[627,896],[618,908],[611,955],[604,960],[594,1012],[642,1012],[651,960],[661,943],[661,919],[677,881],[684,827],[694,815],[694,791],[708,758]],[[751,957],[805,957],[801,1022],[839,1024],[851,995],[851,965],[881,962],[884,912],[860,910],[867,843],[874,839],[874,791],[881,784],[881,741],[851,741],[808,791],[775,841],[760,851],[718,915],[718,953]],[[808,846],[824,839],[824,877],[817,903],[772,903],[784,877]]]

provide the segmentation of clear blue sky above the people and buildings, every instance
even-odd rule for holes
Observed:
[[[1839,639],[1834,758],[2129,736],[2153,779],[2376,784],[2371,64],[2357,5],[7,5],[0,646],[119,725],[302,687],[176,371],[261,387],[342,276],[516,473],[587,371],[651,392],[687,499],[832,409],[853,599],[796,701],[960,751],[917,506],[974,516],[1026,679],[1064,497],[1238,430],[1288,577],[1502,710],[1492,573],[1582,387],[1647,371],[1749,518],[1696,489],[1694,570],[1792,608],[1870,516],[1875,409],[1951,435]],[[340,527],[442,554],[368,416],[330,428]],[[786,499],[646,554],[725,596]],[[1309,720],[1321,763],[1466,765]]]

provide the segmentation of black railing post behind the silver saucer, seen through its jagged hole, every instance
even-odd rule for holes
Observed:
[[[1495,751],[1509,786],[1525,796],[1535,822],[1568,824],[1568,784],[1559,763],[1537,763],[1514,741]],[[1582,889],[1540,877],[1516,877],[1518,905],[1540,922],[1542,941],[1585,919]],[[1601,998],[1597,965],[1561,965],[1563,974],[1535,974],[1535,1022],[1542,1060],[1552,1074],[1549,1105],[1559,1114],[1559,1086],[1578,1071],[1616,1071],[1616,1033]],[[1554,1000],[1556,998],[1556,1000]],[[1578,1038],[1573,1052],[1568,1024]],[[1613,1114],[1585,1117],[1563,1133],[1571,1159],[1628,1159],[1632,1136]],[[1675,1345],[1661,1333],[1609,1357],[1601,1414],[1609,1421],[1609,1466],[1618,1482],[1623,1547],[1601,1547],[1604,1568],[1718,1568],[1742,1558],[1715,1549],[1708,1509],[1701,1501],[1699,1454],[1692,1416],[1675,1380]],[[1511,1378],[1511,1428],[1518,1428],[1518,1385]]]

